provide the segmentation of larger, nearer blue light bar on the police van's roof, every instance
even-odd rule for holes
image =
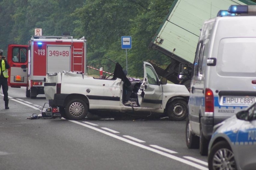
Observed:
[[[231,5],[228,12],[236,14],[256,14],[256,5]]]

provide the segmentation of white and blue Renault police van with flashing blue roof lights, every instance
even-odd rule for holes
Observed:
[[[201,155],[214,125],[256,102],[256,5],[232,5],[229,12],[204,22],[197,45],[186,143]],[[188,76],[186,68],[180,77]]]

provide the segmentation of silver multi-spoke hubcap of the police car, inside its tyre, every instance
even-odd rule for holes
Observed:
[[[227,148],[219,149],[213,157],[213,169],[215,170],[235,170],[234,154]]]

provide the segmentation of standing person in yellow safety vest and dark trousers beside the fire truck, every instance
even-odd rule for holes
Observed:
[[[3,56],[3,50],[0,50],[0,68],[1,68],[1,74],[0,74],[0,88],[2,86],[3,88],[3,94],[4,94],[4,101],[5,101],[5,109],[9,109],[8,103],[8,68],[10,68],[10,65],[6,61],[5,56]]]

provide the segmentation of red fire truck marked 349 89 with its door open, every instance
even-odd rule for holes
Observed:
[[[47,73],[86,73],[86,39],[72,36],[32,36],[28,45],[8,46],[8,85],[26,87],[26,97],[44,94]]]

